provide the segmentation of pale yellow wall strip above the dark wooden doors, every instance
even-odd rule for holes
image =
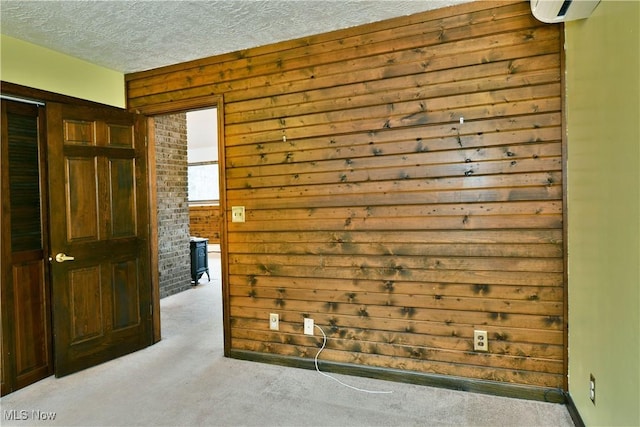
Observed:
[[[0,78],[102,104],[125,107],[124,74],[0,36]]]

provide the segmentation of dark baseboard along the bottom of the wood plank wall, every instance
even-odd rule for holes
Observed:
[[[269,363],[272,365],[315,370],[315,363],[313,359],[305,359],[301,357],[280,356],[246,350],[231,350],[229,352],[229,357],[253,362]],[[422,372],[402,371],[399,369],[378,368],[327,361],[319,361],[319,367],[323,372],[332,372],[336,374],[354,375],[408,384],[446,388],[450,390],[470,391],[473,393],[490,394],[517,399],[537,400],[561,404],[566,403],[565,392],[561,389],[505,384],[496,381],[474,380],[447,375],[426,374]]]

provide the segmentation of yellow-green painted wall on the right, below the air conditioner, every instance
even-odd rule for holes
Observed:
[[[565,26],[569,392],[588,426],[640,425],[639,29],[638,1]]]

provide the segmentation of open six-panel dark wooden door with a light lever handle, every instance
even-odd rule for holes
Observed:
[[[152,343],[146,119],[50,103],[47,138],[62,376]]]

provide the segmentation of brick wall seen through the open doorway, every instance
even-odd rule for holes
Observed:
[[[186,114],[157,116],[158,269],[160,297],[191,286]]]

